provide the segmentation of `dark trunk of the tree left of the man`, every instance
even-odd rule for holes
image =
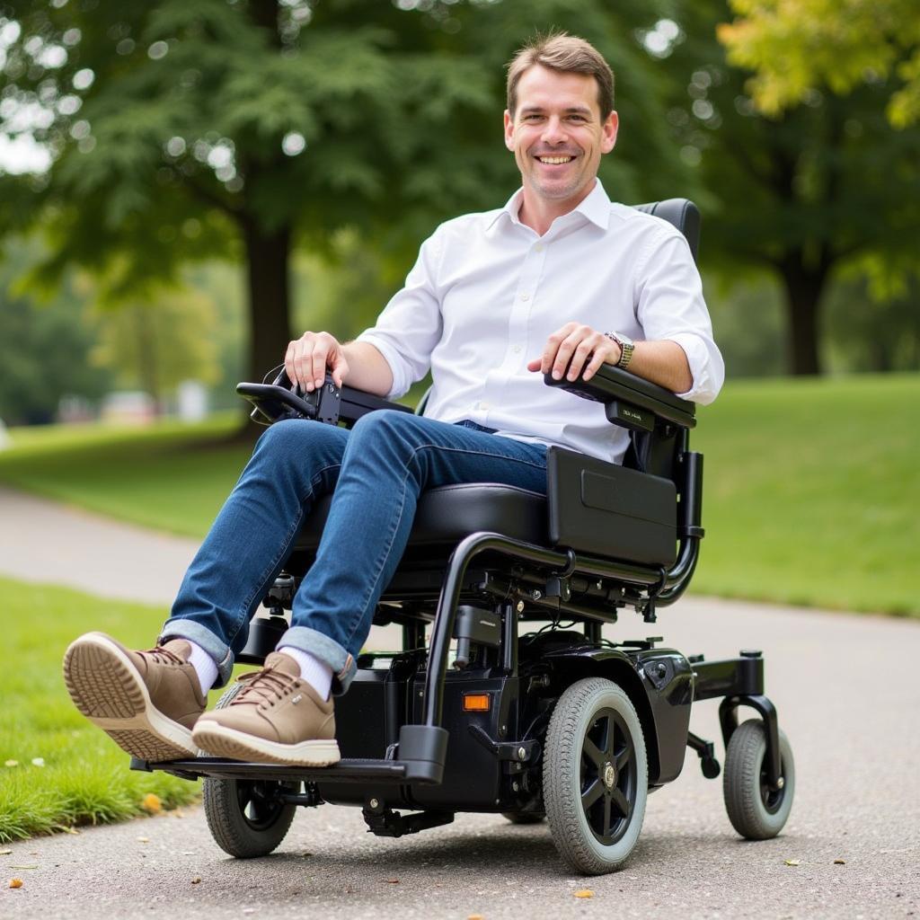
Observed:
[[[284,360],[291,340],[291,227],[267,233],[255,220],[244,218],[243,237],[249,307],[247,380],[259,382]]]

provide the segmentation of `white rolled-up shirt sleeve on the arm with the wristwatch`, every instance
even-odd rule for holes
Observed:
[[[668,339],[684,350],[693,385],[677,396],[706,406],[719,396],[725,362],[712,336],[703,284],[684,236],[670,228],[638,259],[636,318],[646,339]]]

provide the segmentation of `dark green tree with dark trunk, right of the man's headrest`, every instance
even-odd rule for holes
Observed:
[[[723,3],[686,0],[668,118],[707,195],[710,264],[780,279],[795,374],[821,371],[822,297],[837,270],[914,272],[920,217],[920,137],[885,120],[886,84],[849,96],[812,91],[776,117],[755,109],[747,72],[725,63]],[[715,258],[713,258],[715,257]]]

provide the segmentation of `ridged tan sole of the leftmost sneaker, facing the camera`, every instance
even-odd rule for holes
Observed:
[[[63,681],[77,709],[122,751],[151,762],[197,755],[190,730],[154,707],[144,679],[107,636],[90,633],[71,643]]]

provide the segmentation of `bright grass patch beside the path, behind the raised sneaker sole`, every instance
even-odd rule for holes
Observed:
[[[0,579],[0,604],[0,843],[144,814],[148,793],[167,809],[197,799],[198,783],[129,770],[128,755],[77,712],[61,676],[63,651],[81,633],[101,629],[148,648],[166,610],[7,579]]]

